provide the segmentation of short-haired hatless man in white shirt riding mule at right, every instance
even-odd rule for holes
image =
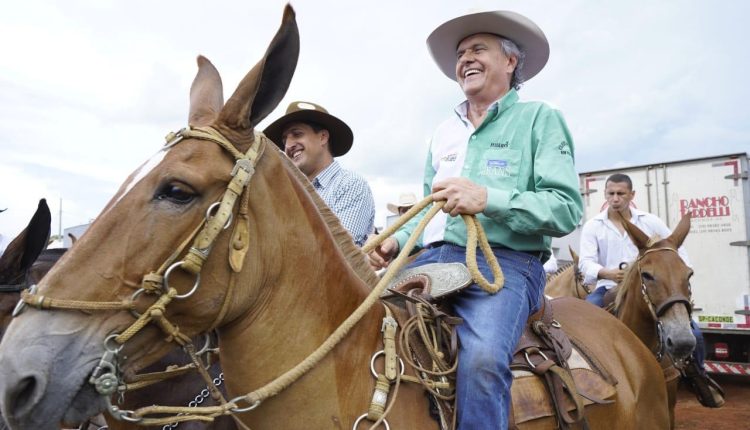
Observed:
[[[624,264],[630,264],[638,257],[638,248],[625,232],[621,217],[633,223],[649,237],[659,235],[666,238],[672,234],[659,217],[631,207],[635,191],[629,176],[615,173],[607,178],[604,197],[607,200],[607,210],[586,221],[583,226],[578,263],[584,276],[583,283],[596,283],[596,289],[586,300],[599,307],[604,307],[604,295],[607,290],[622,281]],[[617,213],[621,217],[617,216]],[[677,253],[686,265],[691,266],[684,246],[681,246]],[[721,388],[708,377],[703,368],[703,335],[692,319],[690,326],[696,343],[693,360],[685,369],[685,374],[689,378],[688,383],[694,388],[703,406],[721,407],[724,404]]]

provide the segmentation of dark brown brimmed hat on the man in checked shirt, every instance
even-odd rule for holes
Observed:
[[[352,129],[344,121],[329,114],[323,106],[310,102],[291,102],[286,108],[286,115],[266,127],[263,133],[283,151],[284,142],[281,140],[281,133],[287,125],[293,122],[312,122],[328,130],[330,135],[328,144],[334,157],[346,154],[352,147],[354,141]]]

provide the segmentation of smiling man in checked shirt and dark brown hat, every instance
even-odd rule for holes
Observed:
[[[354,243],[362,246],[375,222],[372,191],[362,176],[334,160],[352,147],[349,126],[320,105],[297,101],[263,132],[307,176]]]

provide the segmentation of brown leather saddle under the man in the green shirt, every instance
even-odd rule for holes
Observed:
[[[471,283],[471,275],[461,263],[429,264],[402,271],[381,298],[390,304],[400,327],[414,314],[417,302],[432,306],[432,312],[439,315],[437,319],[456,325],[460,321],[445,313],[441,301]],[[584,407],[611,403],[607,399],[616,393],[617,381],[580,342],[563,331],[554,320],[553,307],[553,302],[545,298],[542,309],[529,317],[516,346],[511,363],[514,380],[510,428],[550,416],[557,417],[562,429],[576,423],[587,428]],[[455,357],[455,331],[444,337],[447,339],[438,342],[444,346],[442,356]],[[411,346],[411,351],[399,354],[409,354],[420,366],[429,367],[432,356],[427,347],[418,339],[412,339]],[[448,423],[453,422],[455,414],[452,400],[431,396],[431,410],[441,428],[450,428]]]

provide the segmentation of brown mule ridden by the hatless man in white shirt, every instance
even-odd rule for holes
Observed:
[[[638,258],[617,287],[614,313],[660,360],[673,428],[679,380],[674,365],[690,357],[696,342],[690,328],[693,271],[677,254],[690,232],[690,214],[682,217],[666,239],[649,239],[627,220],[623,226],[638,248]]]

